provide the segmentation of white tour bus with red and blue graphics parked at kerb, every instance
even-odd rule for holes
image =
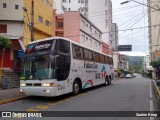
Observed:
[[[31,42],[24,56],[20,92],[59,96],[114,79],[113,59],[62,37]]]

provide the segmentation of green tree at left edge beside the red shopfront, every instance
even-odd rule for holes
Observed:
[[[10,39],[0,36],[0,50],[2,51],[2,59],[1,59],[1,66],[0,66],[0,80],[2,77],[2,67],[3,67],[3,60],[5,55],[5,49],[10,48],[12,45],[12,42]]]

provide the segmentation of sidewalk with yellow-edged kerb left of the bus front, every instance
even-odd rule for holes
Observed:
[[[19,88],[0,89],[0,105],[20,100],[26,97],[23,93],[20,93]]]

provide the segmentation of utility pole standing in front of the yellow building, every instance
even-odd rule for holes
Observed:
[[[31,9],[31,41],[34,41],[34,0],[32,0]]]

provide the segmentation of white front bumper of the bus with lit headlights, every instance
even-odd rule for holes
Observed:
[[[20,92],[31,96],[57,96],[55,87],[20,87]]]

